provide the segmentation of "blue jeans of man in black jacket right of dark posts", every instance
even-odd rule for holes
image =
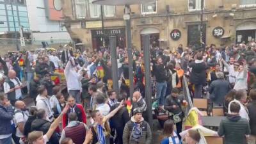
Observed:
[[[164,106],[164,97],[166,93],[167,84],[166,81],[163,83],[156,82],[156,96],[159,106]]]

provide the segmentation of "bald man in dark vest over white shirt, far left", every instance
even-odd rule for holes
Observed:
[[[4,93],[7,94],[8,100],[10,100],[12,106],[14,106],[15,102],[21,98],[22,87],[22,83],[18,77],[16,77],[16,72],[14,70],[9,70],[8,77],[4,81]]]

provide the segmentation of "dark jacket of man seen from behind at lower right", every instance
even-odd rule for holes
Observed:
[[[228,114],[221,120],[218,134],[225,136],[225,144],[246,144],[245,136],[250,134],[250,125],[245,118]]]

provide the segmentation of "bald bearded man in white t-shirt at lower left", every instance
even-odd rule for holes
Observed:
[[[26,104],[18,100],[15,102],[15,115],[13,117],[13,122],[16,127],[16,137],[19,140],[19,143],[22,144],[25,141],[25,136],[24,136],[24,126],[28,120],[29,112],[28,109],[26,108]]]

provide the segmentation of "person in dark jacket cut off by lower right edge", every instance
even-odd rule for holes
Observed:
[[[252,99],[251,102],[247,105],[247,109],[249,112],[249,118],[250,118],[250,128],[251,128],[251,135],[248,138],[249,144],[255,144],[256,143],[256,89],[252,89],[250,91],[250,98]]]

